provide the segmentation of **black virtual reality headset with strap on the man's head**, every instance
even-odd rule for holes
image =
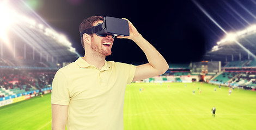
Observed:
[[[81,32],[81,37],[83,34],[93,34],[97,36],[105,37],[107,35],[115,36],[129,36],[129,25],[128,21],[125,19],[114,18],[114,17],[103,17],[103,23],[99,23],[92,28],[88,28]]]

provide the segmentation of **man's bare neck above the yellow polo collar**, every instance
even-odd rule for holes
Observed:
[[[88,62],[89,64],[94,65],[97,69],[101,69],[105,65],[105,56],[89,56],[85,55],[82,57],[83,60]]]

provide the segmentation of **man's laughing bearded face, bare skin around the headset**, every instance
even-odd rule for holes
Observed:
[[[98,23],[102,23],[103,21],[97,21],[93,25],[95,26]],[[93,34],[92,36],[92,44],[91,48],[95,51],[95,53],[103,56],[109,56],[111,55],[112,51],[112,45],[114,42],[114,38],[112,38],[112,35],[107,35],[105,37],[97,36],[96,34]]]

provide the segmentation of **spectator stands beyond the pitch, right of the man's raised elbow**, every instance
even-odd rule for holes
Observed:
[[[144,82],[194,82],[203,81],[216,85],[254,89],[256,86],[256,60],[227,62],[218,73],[192,73],[189,64],[169,64],[161,77],[151,77]]]

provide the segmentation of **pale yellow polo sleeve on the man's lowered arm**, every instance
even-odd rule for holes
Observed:
[[[58,70],[52,81],[51,103],[57,105],[69,105],[69,89],[66,76]]]

